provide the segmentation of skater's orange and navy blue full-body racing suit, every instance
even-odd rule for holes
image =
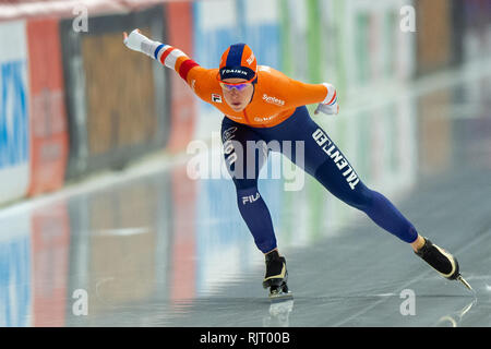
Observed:
[[[384,195],[361,182],[345,155],[310,118],[306,105],[337,100],[332,85],[306,84],[273,68],[259,65],[251,103],[243,111],[236,112],[224,99],[218,69],[200,67],[168,45],[156,46],[154,58],[176,70],[196,96],[225,115],[224,156],[236,185],[239,212],[262,252],[267,253],[277,245],[270,210],[258,191],[259,172],[270,151],[282,152],[333,195],[363,210],[386,231],[406,242],[417,239],[412,224]],[[240,59],[244,64],[247,58],[242,55]],[[250,141],[261,145],[248,148]],[[241,152],[237,152],[239,147]]]

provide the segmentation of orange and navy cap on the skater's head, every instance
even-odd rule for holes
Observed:
[[[258,61],[254,52],[246,44],[233,44],[221,55],[219,65],[219,80],[246,79],[255,80],[258,75]]]

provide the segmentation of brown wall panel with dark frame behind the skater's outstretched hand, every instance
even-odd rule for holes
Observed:
[[[163,148],[169,135],[168,72],[122,44],[122,32],[140,28],[164,39],[161,5],[142,12],[88,19],[86,32],[61,22],[68,100],[68,177],[123,168]]]

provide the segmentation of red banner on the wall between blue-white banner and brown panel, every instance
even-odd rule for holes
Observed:
[[[29,195],[64,183],[68,157],[67,115],[58,21],[27,22],[31,85]]]

